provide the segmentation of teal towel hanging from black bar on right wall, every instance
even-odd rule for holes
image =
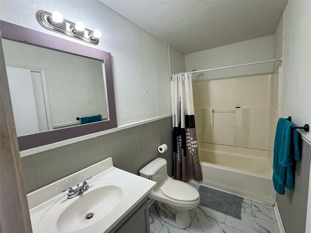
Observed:
[[[292,129],[294,123],[280,118],[276,126],[273,156],[273,186],[278,194],[285,194],[287,189],[294,189],[293,164],[291,155],[295,160],[300,159],[298,148],[298,133]]]

